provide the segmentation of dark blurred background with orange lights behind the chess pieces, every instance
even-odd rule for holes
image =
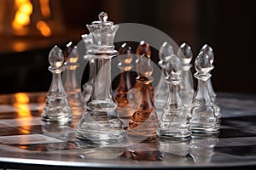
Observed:
[[[153,26],[187,42],[194,57],[207,43],[215,91],[256,94],[255,7],[250,0],[0,0],[0,94],[47,91],[49,50],[81,41],[102,11],[116,24]]]

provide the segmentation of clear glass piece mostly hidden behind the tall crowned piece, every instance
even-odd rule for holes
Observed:
[[[92,44],[92,35],[91,34],[83,34],[82,35],[84,45],[85,45],[85,53],[90,50]],[[84,103],[86,103],[90,99],[90,95],[92,92],[93,86],[93,75],[94,75],[94,59],[90,54],[85,54],[84,59],[89,61],[89,79],[83,85],[82,91],[82,99]]]

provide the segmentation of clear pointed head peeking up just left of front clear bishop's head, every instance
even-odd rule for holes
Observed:
[[[167,60],[172,56],[173,48],[172,45],[168,42],[163,42],[159,50],[159,59],[162,62],[167,62]]]

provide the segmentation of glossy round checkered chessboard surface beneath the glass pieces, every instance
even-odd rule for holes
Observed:
[[[137,153],[132,152],[132,147],[125,147],[123,154],[118,158],[115,157],[112,161],[108,159],[101,161],[101,157],[97,156],[93,156],[93,159],[81,156],[84,150],[79,148],[75,138],[75,125],[71,124],[65,129],[44,127],[40,117],[42,105],[44,104],[29,104],[29,113],[17,111],[14,105],[0,105],[0,168],[4,167],[5,158],[13,158],[14,162],[17,161],[17,158],[21,160],[20,162],[23,159],[61,161],[63,164],[65,162],[66,164],[68,162],[97,162],[102,163],[103,167],[109,167],[109,165],[112,167],[114,165],[140,167],[145,166],[145,163],[142,163],[144,161],[149,162],[147,166],[171,168],[186,165],[188,167],[256,165],[255,96],[218,94],[218,105],[221,107],[223,117],[218,138],[214,142],[208,143],[209,145],[194,144],[193,146],[190,142],[187,145],[187,156],[177,156],[172,150],[168,152],[168,155],[165,150],[154,150],[149,145],[148,148],[147,146],[142,147],[144,155],[137,156],[137,160],[134,159]],[[156,144],[156,147],[158,146]],[[208,157],[191,156],[189,150],[193,147],[208,151]],[[92,150],[87,151],[89,153]],[[147,154],[150,155],[149,158]],[[152,158],[152,156],[154,157]]]

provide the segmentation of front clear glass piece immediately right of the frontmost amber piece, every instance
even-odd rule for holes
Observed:
[[[158,133],[160,139],[188,140],[191,135],[187,115],[184,112],[179,85],[182,82],[182,64],[175,54],[166,65],[166,82],[169,96],[160,119]]]

